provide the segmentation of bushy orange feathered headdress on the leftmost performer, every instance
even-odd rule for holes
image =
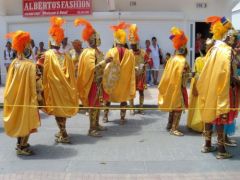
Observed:
[[[31,41],[30,33],[21,30],[8,33],[5,37],[12,39],[12,48],[18,53],[23,53],[24,49]]]

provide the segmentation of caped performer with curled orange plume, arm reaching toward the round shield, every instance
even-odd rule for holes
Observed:
[[[90,128],[88,135],[101,137],[100,131],[106,128],[99,124],[100,107],[103,100],[107,100],[108,95],[102,87],[102,77],[105,66],[112,58],[104,60],[103,53],[98,49],[101,45],[99,34],[92,27],[90,22],[79,18],[74,21],[75,26],[84,25],[82,38],[88,42],[89,47],[84,49],[79,58],[77,89],[80,100],[89,109]],[[95,108],[94,108],[95,107]]]

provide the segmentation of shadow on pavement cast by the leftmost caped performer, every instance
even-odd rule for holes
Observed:
[[[71,148],[72,145],[35,145],[31,149],[33,156],[19,156],[23,160],[34,159],[67,159],[77,156],[77,151]]]

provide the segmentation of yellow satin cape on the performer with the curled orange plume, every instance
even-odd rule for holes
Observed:
[[[79,98],[84,106],[88,106],[88,94],[92,86],[95,69],[95,49],[84,49],[79,57],[77,88]]]

